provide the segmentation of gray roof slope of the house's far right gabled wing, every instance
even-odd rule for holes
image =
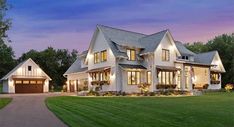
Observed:
[[[217,51],[210,51],[210,52],[196,54],[194,57],[194,61],[203,64],[211,64],[216,53]]]

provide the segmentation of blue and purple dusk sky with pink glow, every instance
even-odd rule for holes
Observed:
[[[175,40],[207,41],[234,32],[234,0],[8,0],[16,56],[30,49],[88,48],[96,24]]]

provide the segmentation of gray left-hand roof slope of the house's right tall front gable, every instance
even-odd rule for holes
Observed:
[[[159,43],[161,42],[167,31],[168,30],[163,30],[158,33],[154,33],[140,38],[139,42],[145,47],[141,54],[154,52],[154,50],[158,47]]]

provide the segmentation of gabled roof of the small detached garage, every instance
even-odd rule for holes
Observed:
[[[7,80],[18,68],[20,68],[21,66],[23,66],[26,62],[31,61],[35,66],[37,66],[38,68],[40,68],[31,58],[21,62],[20,64],[18,64],[15,68],[13,68],[8,74],[6,74],[1,80]],[[41,68],[40,68],[41,69]],[[41,69],[42,70],[42,69]],[[44,75],[46,75],[46,77],[49,80],[52,80],[43,70],[42,73],[44,73]]]

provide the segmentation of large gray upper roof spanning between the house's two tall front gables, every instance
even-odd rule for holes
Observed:
[[[104,37],[117,57],[127,57],[125,52],[120,52],[116,45],[136,47],[144,49],[141,54],[153,52],[168,30],[163,30],[151,35],[136,33],[108,26],[97,25],[103,32]]]

